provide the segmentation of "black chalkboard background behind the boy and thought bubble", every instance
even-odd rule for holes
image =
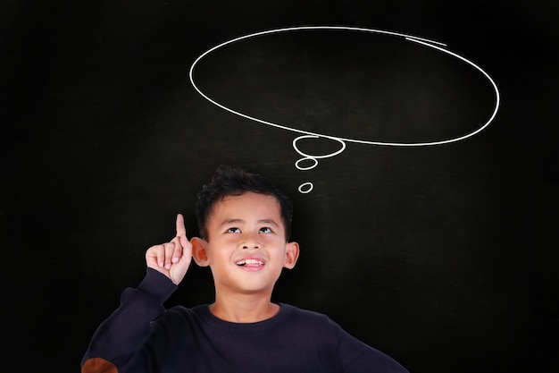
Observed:
[[[558,16],[528,0],[4,1],[0,370],[79,371],[147,247],[172,237],[178,212],[196,234],[196,193],[225,164],[294,199],[302,256],[277,301],[328,314],[414,373],[559,371]],[[496,119],[439,146],[346,142],[299,170],[300,134],[214,106],[188,70],[231,38],[308,25],[443,42],[496,81]],[[325,32],[220,49],[196,77],[247,114],[340,137],[439,140],[490,114],[488,81],[450,57]],[[193,266],[168,304],[212,289]]]

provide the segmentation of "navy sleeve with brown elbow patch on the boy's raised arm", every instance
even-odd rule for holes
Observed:
[[[176,288],[169,278],[147,268],[138,288],[122,292],[119,308],[96,329],[81,372],[149,372],[152,358],[141,347],[149,339],[151,322],[164,315],[163,302]]]

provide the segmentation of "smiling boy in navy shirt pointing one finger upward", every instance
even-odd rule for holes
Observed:
[[[407,372],[330,318],[271,302],[282,268],[299,256],[291,216],[267,179],[219,168],[198,194],[200,237],[188,241],[178,215],[175,237],[146,251],[146,277],[98,327],[82,373]],[[211,268],[215,301],[164,309],[191,258]]]

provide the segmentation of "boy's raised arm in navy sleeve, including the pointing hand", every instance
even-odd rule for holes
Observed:
[[[121,306],[97,328],[81,361],[82,373],[117,372],[117,367],[150,371],[155,357],[146,356],[141,347],[150,336],[150,322],[165,313],[163,302],[186,275],[191,257],[179,214],[175,238],[146,251],[146,278],[138,289],[122,293]]]

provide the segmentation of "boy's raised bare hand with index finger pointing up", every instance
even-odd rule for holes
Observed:
[[[192,243],[187,239],[184,217],[177,215],[177,234],[170,242],[154,245],[146,251],[146,265],[179,284],[192,260]]]

